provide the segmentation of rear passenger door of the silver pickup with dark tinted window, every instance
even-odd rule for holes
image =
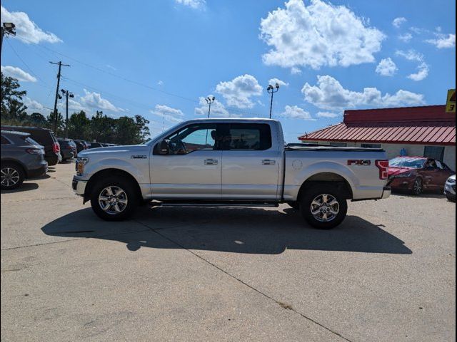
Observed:
[[[279,197],[282,150],[268,123],[221,123],[222,199]]]

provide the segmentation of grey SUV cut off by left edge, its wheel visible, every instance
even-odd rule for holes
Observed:
[[[29,133],[1,130],[1,190],[15,189],[47,170],[44,148]]]

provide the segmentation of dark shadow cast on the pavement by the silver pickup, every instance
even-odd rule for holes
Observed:
[[[335,229],[313,229],[289,208],[142,207],[125,222],[104,222],[91,209],[81,209],[46,224],[42,231],[122,242],[131,251],[149,247],[247,254],[280,254],[286,249],[412,254],[381,227],[348,216]]]

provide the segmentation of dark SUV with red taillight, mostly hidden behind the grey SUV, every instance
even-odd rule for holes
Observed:
[[[33,140],[44,146],[44,159],[46,159],[49,166],[56,165],[61,161],[60,145],[52,130],[41,127],[5,125],[1,125],[1,130],[29,133]]]

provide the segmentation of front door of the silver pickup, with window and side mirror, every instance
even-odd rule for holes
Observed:
[[[193,123],[153,148],[151,191],[154,199],[220,199],[221,150],[216,124]]]

